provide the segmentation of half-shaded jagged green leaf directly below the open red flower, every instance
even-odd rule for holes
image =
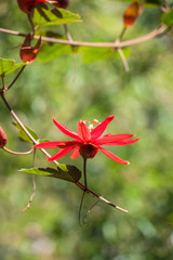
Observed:
[[[21,172],[57,178],[64,181],[78,182],[81,178],[81,171],[71,165],[58,165],[57,170],[54,168],[30,168],[21,169]]]

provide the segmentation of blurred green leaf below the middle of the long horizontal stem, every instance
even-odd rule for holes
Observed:
[[[114,48],[91,48],[82,47],[80,51],[83,54],[83,62],[91,63],[97,60],[106,60],[110,57],[120,57],[120,54],[114,50]],[[122,49],[125,57],[130,55],[130,50],[128,48]]]

